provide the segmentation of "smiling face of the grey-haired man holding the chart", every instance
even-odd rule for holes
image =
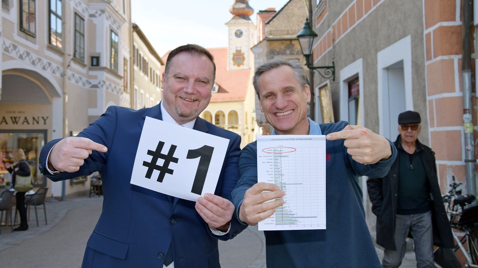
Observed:
[[[282,65],[263,72],[259,77],[259,99],[261,112],[276,134],[309,134],[309,86],[301,87],[292,67]]]

